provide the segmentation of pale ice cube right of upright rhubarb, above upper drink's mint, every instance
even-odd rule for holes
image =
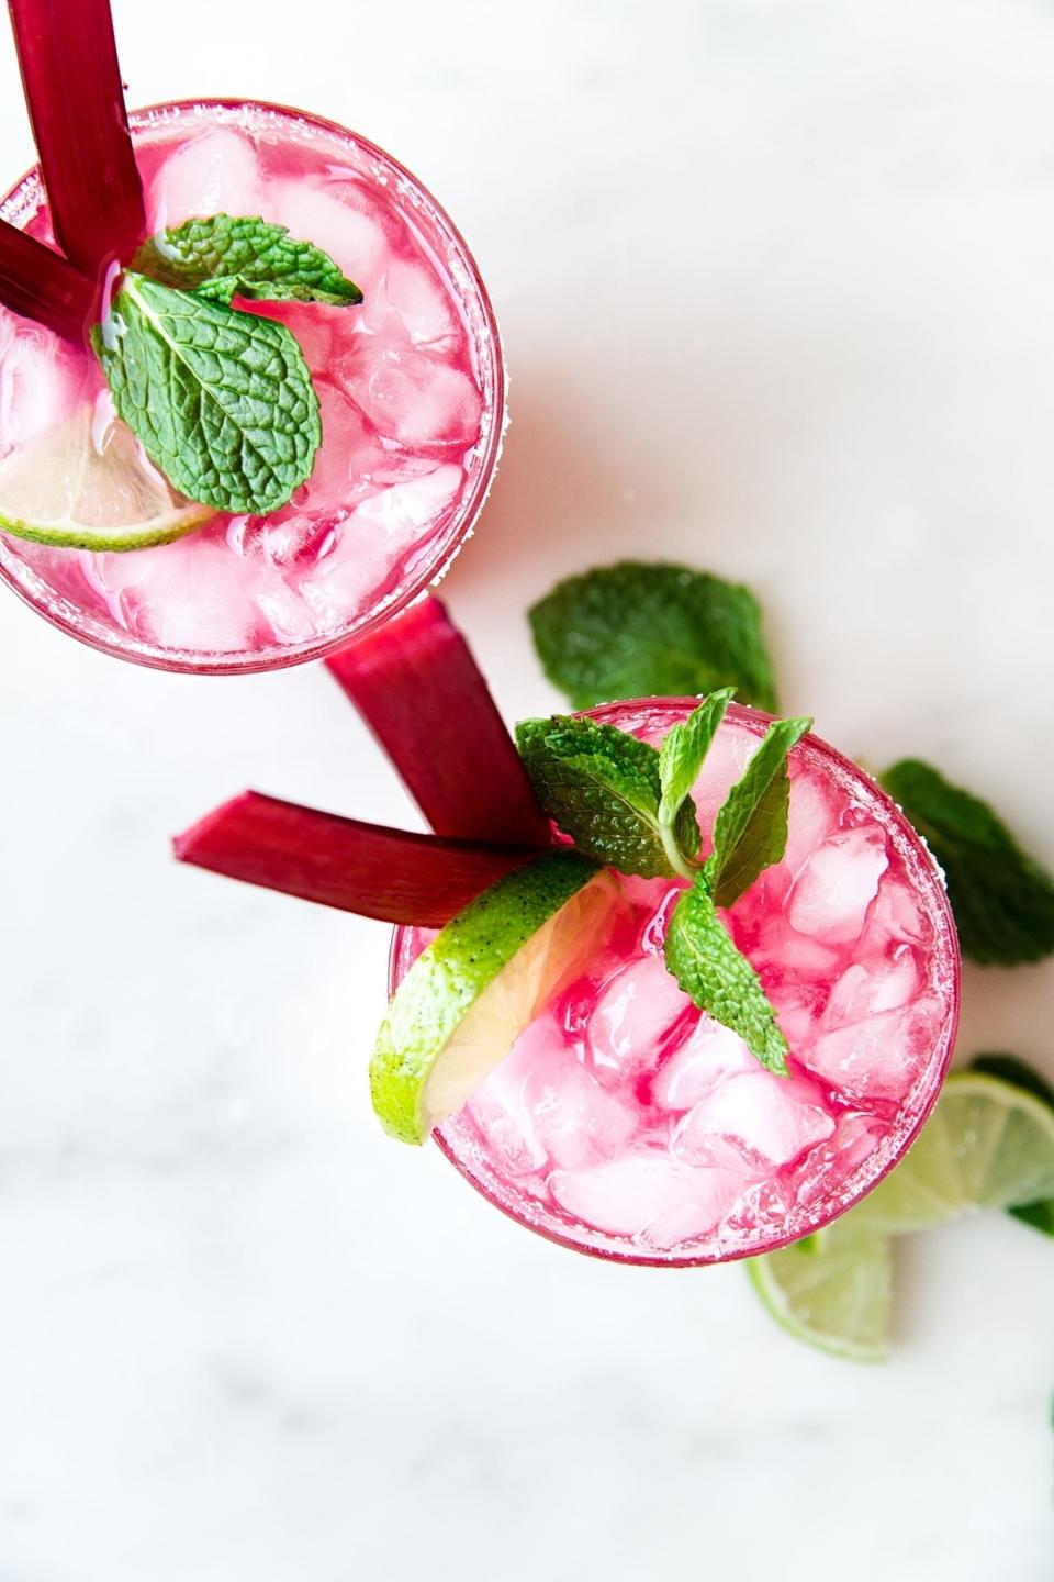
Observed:
[[[180,225],[193,215],[213,214],[273,218],[265,207],[253,141],[234,127],[213,127],[190,138],[163,161],[147,191],[147,217],[153,231]],[[311,231],[295,234],[316,240]]]

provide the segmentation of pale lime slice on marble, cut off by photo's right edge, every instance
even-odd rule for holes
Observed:
[[[1054,1196],[1054,1111],[980,1071],[948,1077],[921,1136],[847,1217],[899,1234]]]

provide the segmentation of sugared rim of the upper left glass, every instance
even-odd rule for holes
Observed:
[[[295,109],[291,104],[275,104],[269,100],[242,100],[242,98],[188,98],[188,100],[164,100],[158,104],[144,104],[139,109],[128,112],[128,122],[133,130],[139,131],[155,123],[155,119],[166,112],[174,112],[177,117],[188,114],[191,111],[231,111],[231,112],[261,112],[264,115],[280,115],[288,120],[300,122],[305,127],[316,128],[341,141],[349,141],[357,150],[373,158],[381,165],[387,166],[389,171],[405,182],[420,199],[428,206],[428,217],[433,220],[441,231],[446,233],[447,240],[452,248],[460,255],[468,280],[477,296],[479,307],[482,310],[482,327],[484,335],[480,335],[480,345],[487,345],[490,350],[490,378],[491,378],[491,399],[487,403],[487,413],[490,416],[490,432],[480,456],[474,468],[474,478],[471,487],[465,490],[458,500],[455,516],[438,535],[436,541],[428,547],[422,563],[416,568],[414,576],[408,581],[405,589],[387,595],[379,600],[379,603],[362,619],[344,626],[337,634],[327,634],[326,638],[318,638],[303,644],[289,644],[277,650],[258,650],[254,653],[215,653],[201,652],[196,657],[194,650],[166,650],[156,649],[149,642],[142,642],[137,638],[128,636],[122,641],[115,636],[109,636],[103,630],[85,630],[84,617],[79,617],[77,607],[63,600],[60,595],[52,598],[41,598],[33,592],[33,584],[41,579],[32,571],[25,562],[21,560],[17,552],[0,546],[0,579],[17,593],[17,596],[28,604],[30,609],[43,615],[44,620],[51,622],[60,631],[68,636],[76,638],[79,642],[87,644],[90,649],[96,649],[100,653],[111,653],[119,660],[128,660],[133,664],[144,664],[149,669],[169,671],[185,676],[253,676],[261,671],[278,671],[288,669],[292,664],[307,664],[311,660],[322,660],[329,653],[335,653],[343,649],[354,638],[365,636],[365,633],[373,631],[375,626],[386,620],[390,620],[408,604],[416,603],[422,598],[430,587],[436,587],[438,582],[446,576],[450,565],[465,547],[466,541],[472,536],[476,522],[484,508],[487,495],[490,494],[491,484],[495,481],[495,473],[498,470],[498,462],[501,459],[501,449],[504,443],[504,430],[507,426],[506,416],[506,359],[501,342],[501,329],[498,327],[498,318],[495,315],[490,294],[484,283],[484,277],[479,271],[479,264],[472,256],[472,252],[461,236],[460,229],[454,225],[454,220],[447,210],[439,204],[431,191],[409,171],[405,165],[395,160],[390,153],[381,149],[376,142],[368,138],[360,136],[357,131],[351,131],[348,127],[341,127],[340,122],[330,120],[326,115],[313,115],[308,111]],[[6,214],[8,207],[14,204],[30,185],[36,184],[43,195],[43,185],[40,180],[40,165],[33,165],[16,184],[11,187],[3,198],[0,198],[0,214]],[[8,563],[8,557],[13,565]],[[22,566],[27,573],[27,582],[24,584],[14,566]],[[51,592],[51,590],[49,590]]]

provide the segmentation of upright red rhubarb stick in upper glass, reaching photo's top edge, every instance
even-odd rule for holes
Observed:
[[[109,0],[8,0],[22,85],[66,258],[96,275],[147,223]]]

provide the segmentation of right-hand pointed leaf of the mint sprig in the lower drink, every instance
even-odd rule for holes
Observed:
[[[732,906],[787,850],[787,755],[812,720],[777,720],[724,800],[706,870],[717,906]]]

